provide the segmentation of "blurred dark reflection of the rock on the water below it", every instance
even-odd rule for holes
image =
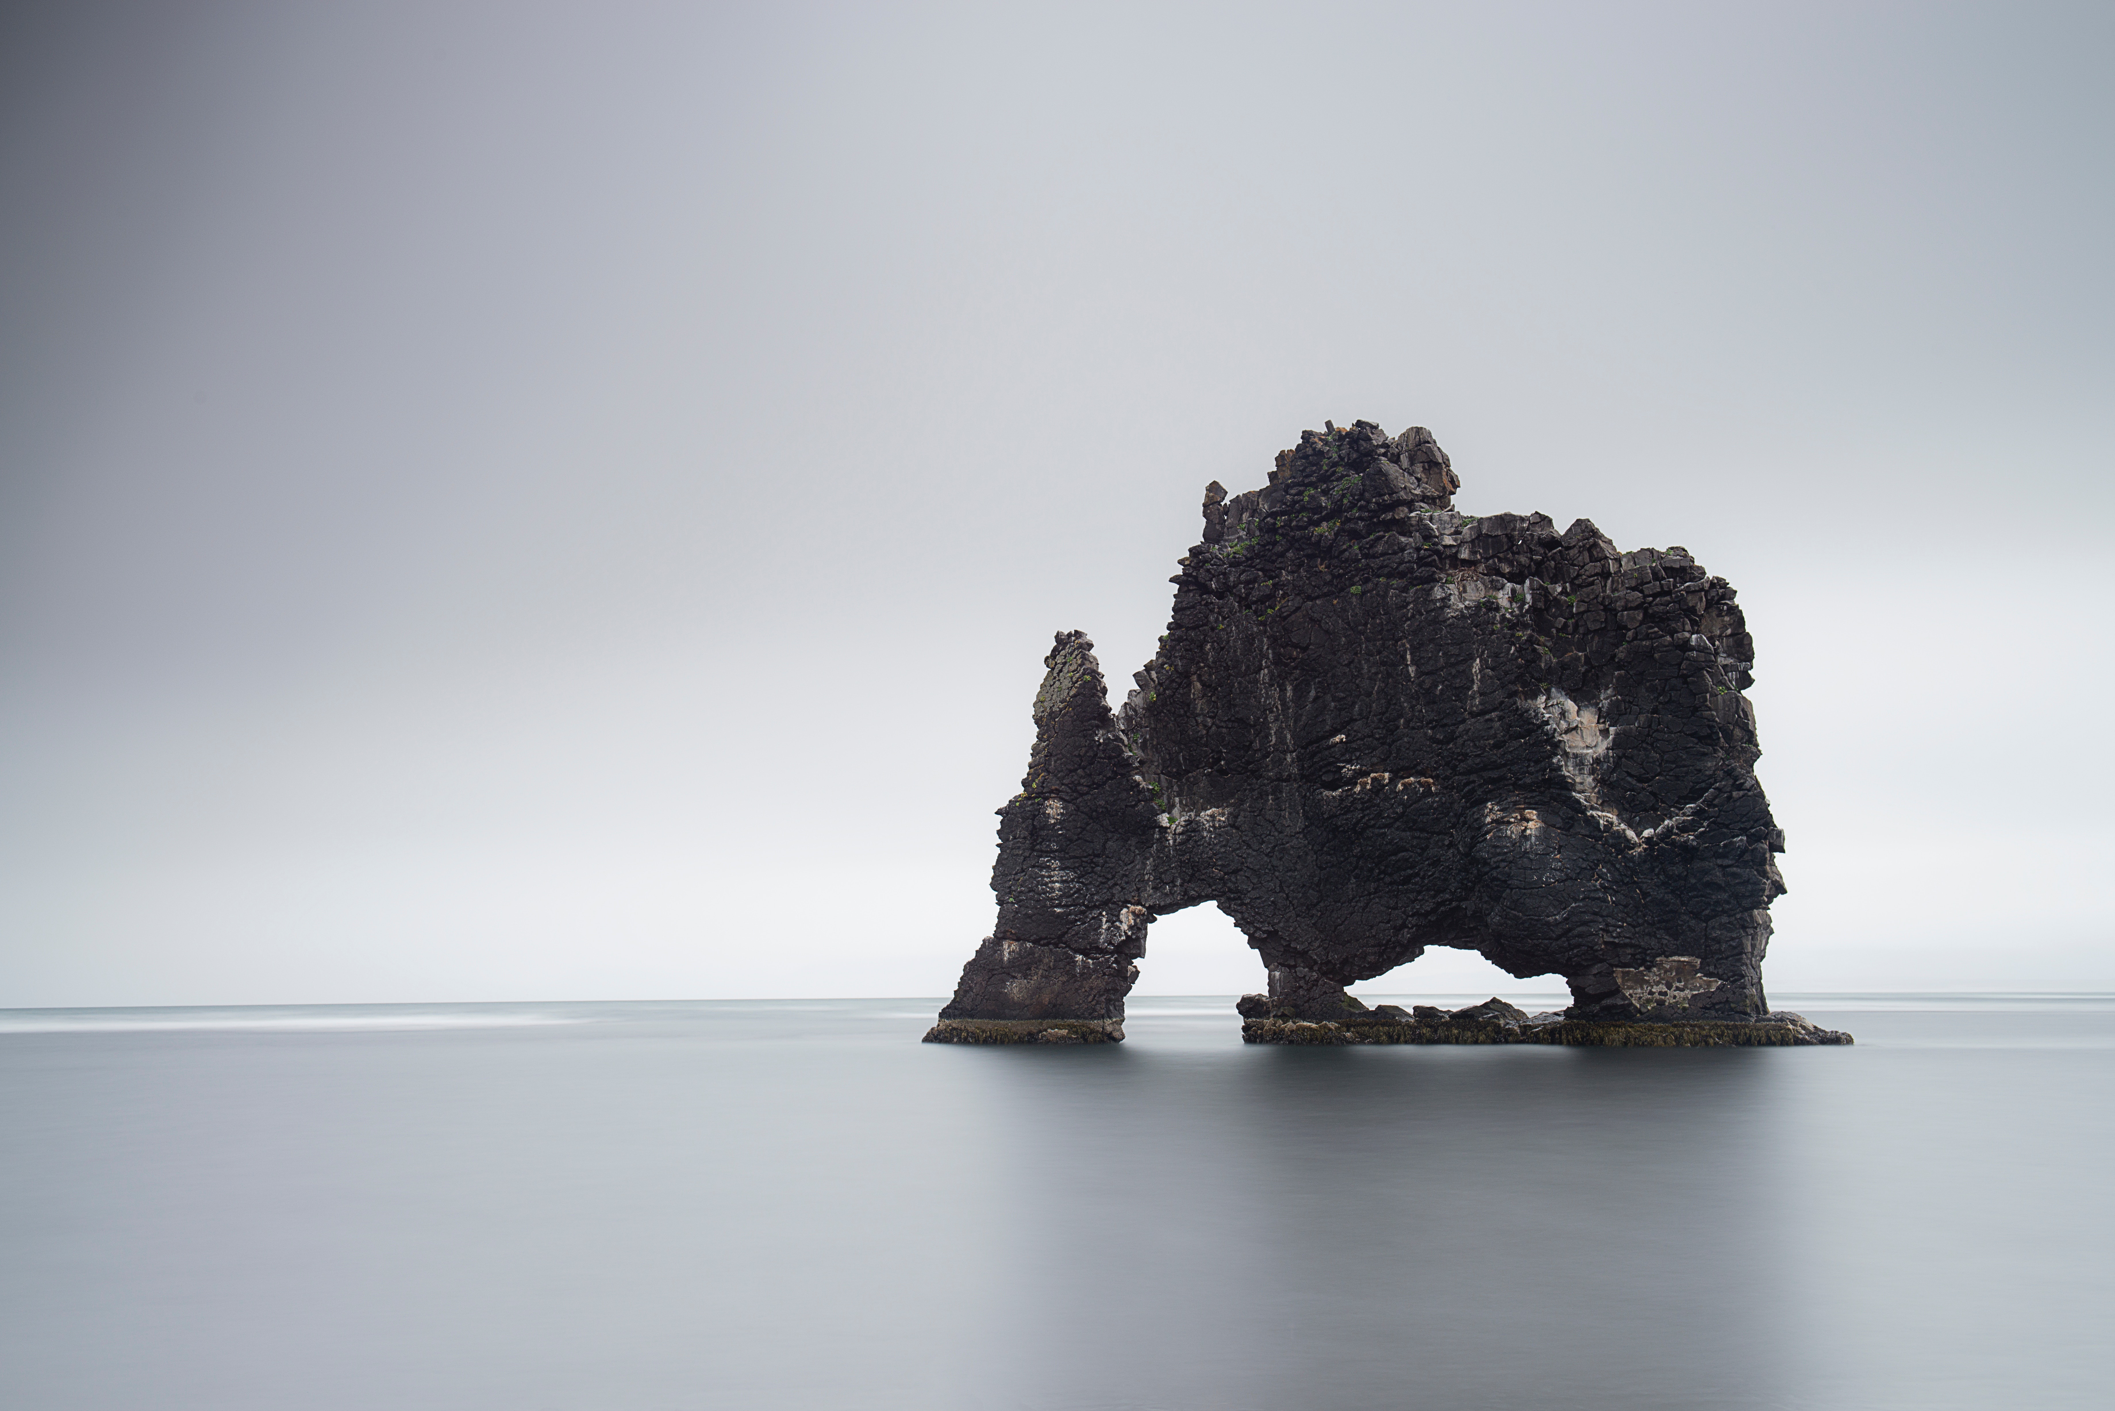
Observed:
[[[986,1053],[1003,1405],[1781,1405],[1783,1056]]]

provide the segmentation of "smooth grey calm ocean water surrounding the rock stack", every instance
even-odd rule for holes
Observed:
[[[1857,1047],[0,1011],[0,1405],[2115,1405],[2115,998],[1779,1003]]]

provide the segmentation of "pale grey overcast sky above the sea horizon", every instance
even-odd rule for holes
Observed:
[[[0,25],[0,1005],[943,994],[1356,417],[1741,590],[1772,990],[2115,988],[2107,4]]]

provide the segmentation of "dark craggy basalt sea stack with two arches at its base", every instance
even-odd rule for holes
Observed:
[[[1206,489],[1119,713],[1058,635],[998,924],[926,1039],[1121,1039],[1146,927],[1216,901],[1269,967],[1250,1043],[1849,1043],[1764,1001],[1785,836],[1732,588],[1457,487],[1423,427],[1305,432],[1261,491]],[[1571,1007],[1345,994],[1428,946],[1563,975]]]

